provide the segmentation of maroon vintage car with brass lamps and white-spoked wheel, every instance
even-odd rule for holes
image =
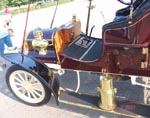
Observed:
[[[117,106],[113,80],[131,79],[150,88],[137,82],[150,77],[150,0],[131,0],[128,7],[118,10],[114,21],[103,26],[102,39],[92,37],[92,29],[88,35],[90,10],[88,15],[86,33],[73,17],[57,28],[35,28],[28,33],[22,53],[5,55],[14,64],[6,80],[17,98],[37,106],[47,103],[53,93],[59,103],[61,89],[55,74],[68,69],[100,75],[98,106],[104,110]]]

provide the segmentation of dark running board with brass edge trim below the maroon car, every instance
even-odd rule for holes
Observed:
[[[109,113],[111,117],[126,116],[130,118],[150,117],[150,105],[140,104],[131,101],[117,100],[117,107],[113,111],[103,110],[98,107],[100,98],[80,93],[60,91],[59,103],[86,108],[99,112]],[[66,108],[67,109],[67,108]],[[70,110],[70,107],[69,109]]]

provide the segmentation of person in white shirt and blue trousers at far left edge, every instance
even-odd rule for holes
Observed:
[[[12,41],[7,29],[7,18],[5,15],[0,15],[0,70],[4,70],[6,68],[6,60],[3,58],[5,44],[8,47],[12,47]]]

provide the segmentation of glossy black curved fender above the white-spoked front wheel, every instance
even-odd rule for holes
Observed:
[[[50,68],[32,57],[20,53],[5,54],[4,58],[10,63],[19,65],[25,70],[39,76],[43,84],[53,93],[58,104],[59,82]]]

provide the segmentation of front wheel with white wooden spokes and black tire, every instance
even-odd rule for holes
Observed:
[[[39,77],[19,65],[13,65],[7,70],[6,83],[14,96],[27,105],[44,105],[51,97],[51,91]]]

